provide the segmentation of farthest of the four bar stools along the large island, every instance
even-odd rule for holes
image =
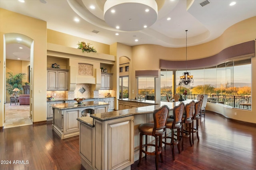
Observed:
[[[198,120],[200,119],[200,110],[202,106],[202,99],[200,99],[198,102],[195,102],[195,113],[192,117],[192,144],[194,145],[194,133],[196,133],[197,139],[199,141],[199,135],[198,135]],[[196,127],[194,127],[194,120],[196,120]]]

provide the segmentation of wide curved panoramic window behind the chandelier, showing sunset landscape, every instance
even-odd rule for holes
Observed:
[[[184,70],[176,71],[176,87],[183,72]],[[191,98],[196,94],[207,94],[208,98],[214,99],[208,102],[217,103],[225,96],[223,104],[235,108],[244,108],[241,104],[251,102],[251,57],[188,72],[194,76],[194,83],[183,87],[188,90]],[[244,109],[251,109],[251,106]]]

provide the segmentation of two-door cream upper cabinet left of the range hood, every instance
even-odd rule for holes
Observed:
[[[47,68],[47,90],[68,90],[68,70]]]

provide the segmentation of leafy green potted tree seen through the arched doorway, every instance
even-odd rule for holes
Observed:
[[[6,78],[6,90],[10,96],[13,96],[13,89],[18,88],[20,91],[23,90],[22,88],[22,79],[25,78],[27,74],[25,73],[19,73],[16,75],[13,75],[12,72],[7,72],[9,74],[9,77]]]

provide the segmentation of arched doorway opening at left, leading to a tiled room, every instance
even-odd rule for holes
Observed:
[[[30,102],[30,82],[31,75],[31,62],[33,58],[34,41],[19,33],[6,33],[4,34],[4,128],[16,127],[22,125],[32,124],[31,117],[31,102]],[[9,73],[16,75],[19,73],[26,74],[22,79],[23,90],[18,91],[17,100],[10,100],[12,94],[6,90],[6,78]],[[26,86],[26,84],[27,86]],[[26,86],[26,87],[25,87]],[[22,94],[26,96],[18,98]],[[26,100],[26,103],[20,104],[20,100]]]

